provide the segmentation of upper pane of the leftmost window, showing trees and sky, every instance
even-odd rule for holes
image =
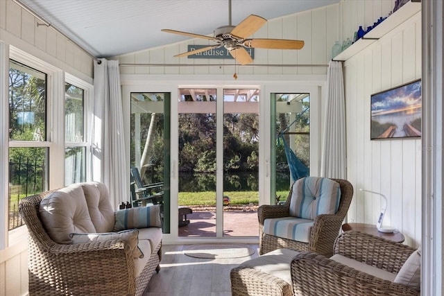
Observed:
[[[9,138],[46,141],[46,74],[10,60]]]

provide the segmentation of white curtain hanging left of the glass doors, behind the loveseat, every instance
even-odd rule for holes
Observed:
[[[94,62],[92,179],[108,186],[111,204],[129,200],[120,71],[117,60]]]

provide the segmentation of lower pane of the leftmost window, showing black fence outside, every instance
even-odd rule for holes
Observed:
[[[23,225],[19,201],[48,190],[48,148],[9,148],[9,230]]]

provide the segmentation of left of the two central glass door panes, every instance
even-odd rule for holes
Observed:
[[[178,123],[178,236],[214,237],[216,89],[179,89]]]

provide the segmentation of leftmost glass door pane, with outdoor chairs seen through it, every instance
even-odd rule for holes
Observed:
[[[169,143],[170,97],[169,93],[131,93],[131,204],[162,204],[164,233],[170,232],[169,146],[164,145]]]

